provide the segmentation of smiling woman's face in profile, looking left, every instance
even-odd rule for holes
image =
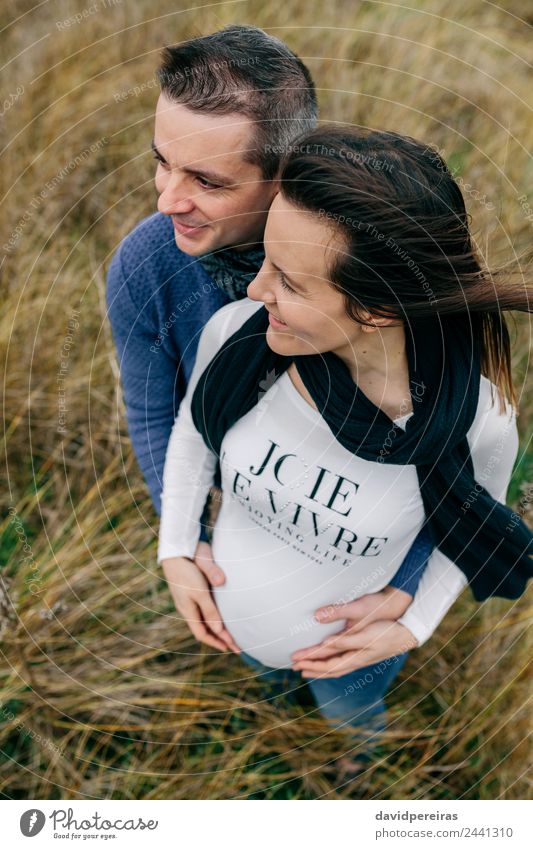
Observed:
[[[265,261],[248,286],[248,297],[269,312],[266,339],[284,356],[333,351],[352,360],[361,325],[346,314],[343,295],[328,279],[342,238],[331,221],[292,206],[281,194],[272,202],[265,229]]]

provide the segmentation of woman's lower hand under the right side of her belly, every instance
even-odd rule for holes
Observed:
[[[304,678],[338,678],[417,645],[416,637],[405,625],[380,620],[362,630],[348,627],[316,646],[294,652],[292,668]]]

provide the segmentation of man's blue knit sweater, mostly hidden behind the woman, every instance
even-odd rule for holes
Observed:
[[[158,514],[166,448],[198,339],[228,300],[201,263],[179,250],[171,219],[160,213],[126,236],[109,267],[107,307],[128,430]],[[431,551],[422,531],[391,585],[414,595]]]

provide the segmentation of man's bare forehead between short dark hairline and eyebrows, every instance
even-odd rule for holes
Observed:
[[[154,141],[171,165],[209,161],[221,169],[240,171],[257,167],[244,160],[254,146],[253,129],[252,121],[240,113],[218,115],[196,111],[161,95]]]

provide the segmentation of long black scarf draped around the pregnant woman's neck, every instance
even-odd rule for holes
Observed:
[[[476,482],[466,434],[475,418],[480,353],[468,316],[406,328],[414,414],[405,432],[353,382],[332,353],[283,357],[269,348],[268,313],[258,309],[200,377],[194,424],[217,455],[225,433],[257,404],[259,384],[291,362],[334,437],[365,460],[416,466],[434,544],[464,572],[474,598],[518,598],[531,577],[533,535]],[[495,449],[497,450],[497,449]]]

